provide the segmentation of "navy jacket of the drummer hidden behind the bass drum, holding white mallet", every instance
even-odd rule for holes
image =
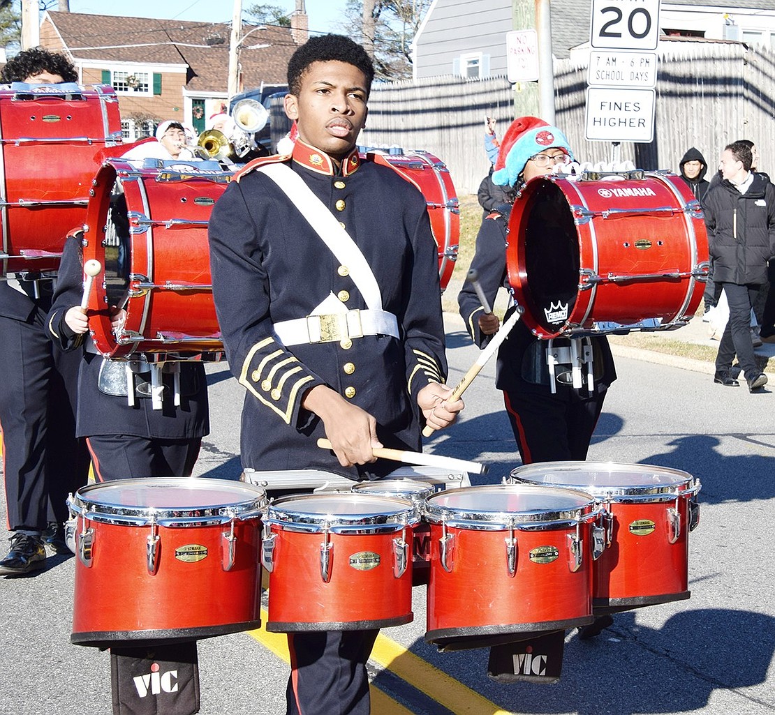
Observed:
[[[84,335],[75,335],[64,321],[83,295],[83,263],[78,239],[64,244],[58,273],[57,290],[48,315],[50,339],[65,350],[83,349],[84,359],[78,373],[76,431],[78,437],[92,435],[130,435],[133,437],[186,439],[204,437],[210,431],[205,368],[202,363],[181,363],[181,406],[171,398],[171,375],[164,375],[164,405],[154,410],[150,398],[136,397],[129,407],[126,396],[108,395],[98,389],[102,356],[84,348]],[[88,334],[85,340],[89,341]],[[117,361],[118,362],[118,361]]]

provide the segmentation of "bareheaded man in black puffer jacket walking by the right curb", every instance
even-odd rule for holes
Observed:
[[[752,160],[745,143],[726,146],[720,163],[722,180],[711,187],[704,201],[714,280],[722,284],[729,303],[714,382],[737,386],[729,374],[736,353],[751,392],[767,382],[753,355],[751,307],[766,283],[767,260],[775,256],[775,187],[751,171]]]

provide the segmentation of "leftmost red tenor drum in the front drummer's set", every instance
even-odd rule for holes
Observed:
[[[265,492],[211,479],[81,487],[71,641],[100,648],[260,626]]]

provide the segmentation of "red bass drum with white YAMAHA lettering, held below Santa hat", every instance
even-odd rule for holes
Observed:
[[[529,181],[506,262],[522,320],[540,338],[662,330],[694,315],[708,276],[698,201],[674,174]]]

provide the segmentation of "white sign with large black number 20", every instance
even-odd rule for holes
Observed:
[[[656,50],[660,0],[592,0],[590,35],[596,50]]]

